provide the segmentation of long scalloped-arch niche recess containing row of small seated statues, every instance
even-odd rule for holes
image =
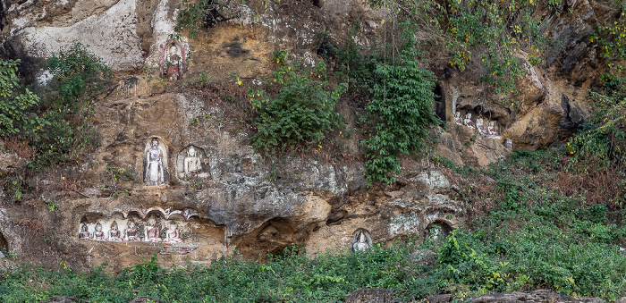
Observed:
[[[224,228],[202,222],[198,213],[160,207],[129,209],[110,217],[90,213],[80,219],[79,240],[106,242],[190,243],[224,242]]]

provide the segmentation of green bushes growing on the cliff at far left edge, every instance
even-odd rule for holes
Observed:
[[[54,75],[47,88],[29,88],[17,76],[19,60],[0,60],[0,137],[5,148],[27,158],[26,168],[0,173],[2,189],[19,199],[30,190],[28,176],[48,167],[76,163],[97,144],[89,124],[94,97],[111,72],[84,46],[63,46],[47,60]]]

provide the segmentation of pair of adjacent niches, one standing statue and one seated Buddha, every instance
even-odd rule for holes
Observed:
[[[143,156],[143,180],[148,186],[166,184],[170,180],[167,147],[162,139],[152,137],[146,142]],[[176,176],[183,182],[211,177],[207,153],[193,145],[182,148],[176,156]]]

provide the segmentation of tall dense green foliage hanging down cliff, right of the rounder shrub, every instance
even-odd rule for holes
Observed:
[[[406,56],[398,65],[379,63],[374,72],[374,97],[363,117],[374,124],[374,134],[363,141],[367,147],[366,179],[391,183],[401,173],[398,153],[427,148],[428,130],[438,122],[435,114],[435,78]]]

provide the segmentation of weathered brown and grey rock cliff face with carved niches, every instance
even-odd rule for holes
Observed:
[[[80,265],[112,260],[114,269],[155,253],[162,263],[208,263],[233,248],[254,258],[289,244],[315,256],[337,245],[348,249],[423,236],[433,227],[449,231],[466,218],[462,201],[451,198],[455,189],[433,164],[404,156],[395,184],[368,189],[359,160],[292,155],[271,162],[250,147],[247,125],[228,114],[227,105],[177,88],[200,72],[214,80],[231,73],[263,80],[273,52],[285,49],[314,64],[323,32],[341,43],[356,19],[364,32],[376,30],[382,12],[367,1],[283,0],[270,3],[258,19],[252,12],[260,4],[250,1],[233,8],[235,18],[180,42],[169,40],[178,15],[175,0],[0,4],[3,54],[21,58],[30,80],[47,55],[80,42],[102,57],[120,82],[95,107],[92,121],[101,140],[90,162],[38,176],[38,184],[51,190],[32,200],[60,209],[29,203],[0,208],[0,247],[15,256],[50,263],[63,256]],[[472,72],[429,63],[439,77],[437,113],[446,122],[438,154],[484,166],[512,147],[536,149],[566,138],[584,121],[588,110],[581,101],[593,84],[587,70],[597,66],[586,41],[589,24],[611,13],[586,0],[564,5],[558,18],[547,8],[538,10],[546,35],[562,41],[563,49],[554,50],[545,67],[531,66],[518,54],[527,67],[514,99],[518,105],[486,94]],[[179,79],[165,80],[167,89],[150,83],[160,61],[174,54],[186,57],[178,66]],[[341,112],[350,127],[353,111]],[[478,117],[493,132],[471,129]],[[348,144],[358,153],[359,135]],[[0,157],[20,161],[10,154]],[[80,174],[81,190],[54,186],[63,173]]]

